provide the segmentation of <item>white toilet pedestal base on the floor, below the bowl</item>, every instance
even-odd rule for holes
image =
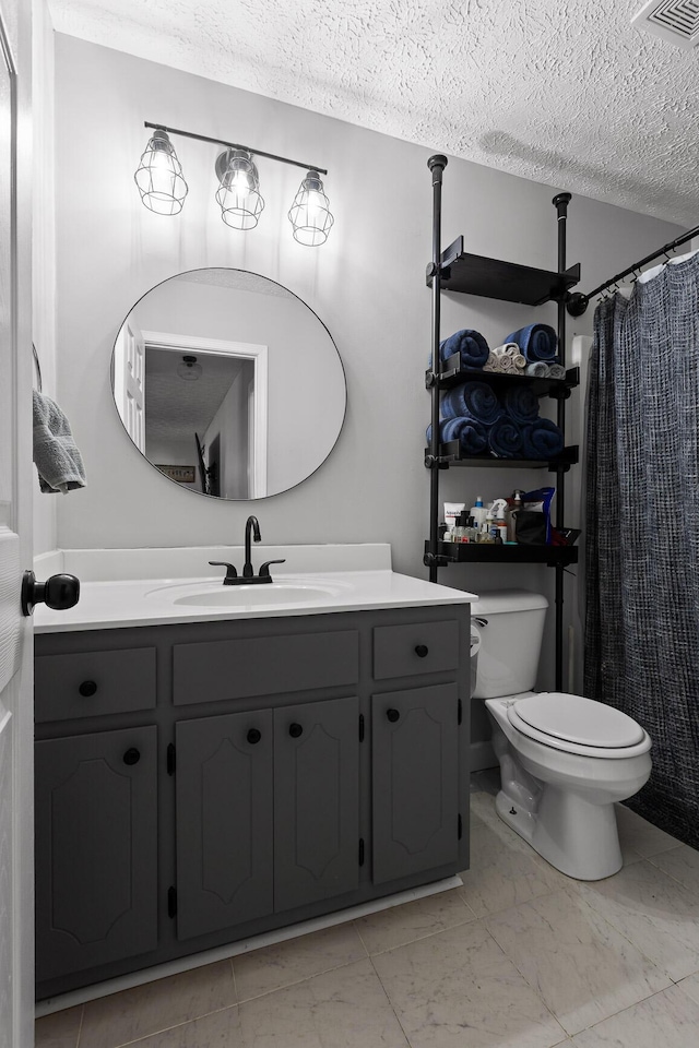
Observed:
[[[543,783],[536,813],[500,790],[495,807],[542,858],[567,877],[599,881],[621,869],[614,805],[592,805],[570,789]]]

